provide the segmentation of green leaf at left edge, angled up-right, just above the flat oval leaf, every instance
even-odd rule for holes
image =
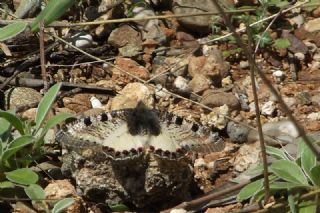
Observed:
[[[33,143],[34,138],[30,135],[24,135],[17,139],[14,139],[10,144],[7,150],[3,151],[2,161],[7,161],[12,155],[17,153],[23,147]]]

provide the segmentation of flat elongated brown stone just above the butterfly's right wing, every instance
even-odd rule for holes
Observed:
[[[239,100],[232,93],[216,92],[214,90],[207,90],[202,95],[201,103],[209,107],[219,107],[226,104],[231,109],[239,109]]]

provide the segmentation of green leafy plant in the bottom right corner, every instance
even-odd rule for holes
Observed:
[[[316,140],[311,140],[318,145]],[[295,159],[274,147],[267,146],[267,153],[276,159],[269,166],[271,195],[287,196],[291,212],[316,212],[317,198],[313,201],[299,200],[302,194],[320,187],[320,163],[309,147],[301,140]],[[263,179],[248,184],[238,194],[238,201],[250,199],[253,202],[263,198]]]

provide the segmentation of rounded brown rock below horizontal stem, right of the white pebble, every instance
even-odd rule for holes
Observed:
[[[120,48],[128,44],[141,45],[141,35],[129,25],[122,25],[113,30],[108,38],[108,44]]]

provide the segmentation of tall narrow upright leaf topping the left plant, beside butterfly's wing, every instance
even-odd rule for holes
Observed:
[[[58,1],[56,1],[58,2]],[[37,115],[36,115],[36,132],[39,130],[41,124],[43,123],[44,119],[46,118],[46,115],[51,109],[51,106],[58,95],[58,92],[60,90],[61,83],[57,83],[54,86],[52,86],[48,92],[45,94],[45,96],[41,99],[38,110],[37,110]]]

